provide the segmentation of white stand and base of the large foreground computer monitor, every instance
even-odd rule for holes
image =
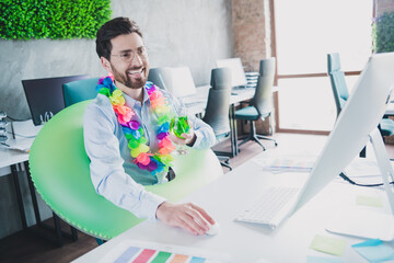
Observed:
[[[390,182],[393,181],[394,171],[378,128],[371,132],[369,139],[382,175],[391,213],[382,214],[362,208],[346,209],[337,213],[335,218],[327,224],[326,230],[346,236],[391,241],[394,240],[394,190]]]

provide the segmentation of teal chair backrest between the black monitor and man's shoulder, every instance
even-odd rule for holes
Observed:
[[[99,78],[91,78],[65,83],[62,88],[66,107],[81,101],[94,99],[97,95],[97,82]]]

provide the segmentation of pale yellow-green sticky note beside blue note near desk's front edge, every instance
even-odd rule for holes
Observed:
[[[341,255],[346,248],[346,241],[316,235],[312,240],[310,248],[333,255]]]

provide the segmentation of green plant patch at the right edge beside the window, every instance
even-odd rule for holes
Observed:
[[[394,13],[383,13],[372,24],[374,53],[394,52]]]

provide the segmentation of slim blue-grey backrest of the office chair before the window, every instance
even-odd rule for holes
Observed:
[[[345,81],[345,73],[340,69],[340,60],[338,53],[327,54],[327,72],[332,83],[338,116],[340,110],[345,105],[345,102],[349,98],[349,91]]]

